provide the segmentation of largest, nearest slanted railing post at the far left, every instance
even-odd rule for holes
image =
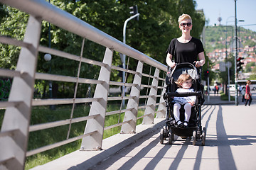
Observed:
[[[23,40],[30,45],[21,48],[16,67],[21,77],[14,77],[8,99],[22,102],[6,108],[4,113],[1,132],[9,131],[12,135],[0,137],[0,169],[5,166],[6,169],[19,170],[25,166],[40,33],[41,18],[30,16]]]

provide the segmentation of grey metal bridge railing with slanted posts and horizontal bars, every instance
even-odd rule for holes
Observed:
[[[123,42],[120,42],[44,0],[0,0],[0,2],[18,8],[18,10],[24,11],[30,15],[23,41],[7,38],[3,35],[0,36],[1,43],[21,47],[16,70],[0,69],[0,77],[13,78],[8,101],[0,102],[0,108],[5,109],[0,133],[0,168],[23,169],[26,157],[81,139],[82,145],[80,150],[101,149],[103,133],[105,130],[121,127],[121,133],[134,133],[136,132],[138,119],[143,118],[144,124],[151,124],[154,123],[155,115],[157,117],[165,116],[166,107],[164,99],[161,97],[164,93],[164,77],[167,70],[167,67],[164,64],[161,64],[151,57],[144,55],[142,52],[125,45]],[[48,21],[54,26],[58,26],[63,30],[68,30],[70,33],[82,37],[81,55],[77,56],[63,52],[61,49],[55,50],[53,48],[41,46],[39,43],[42,21]],[[85,39],[106,47],[105,56],[102,62],[82,56]],[[79,62],[77,77],[36,72],[38,52],[48,53],[50,55]],[[113,52],[120,52],[137,60],[137,69],[122,69],[121,67],[112,65]],[[97,79],[80,77],[80,65],[84,63],[100,67],[100,74]],[[149,74],[143,72],[145,64],[154,68],[154,75],[152,75],[151,72]],[[111,81],[112,70],[133,74],[133,82]],[[159,78],[160,72],[163,73],[162,78]],[[149,79],[149,83],[151,83],[142,84],[142,77],[146,77]],[[34,84],[36,80],[73,83],[75,91],[74,97],[54,99],[33,98]],[[93,98],[77,98],[78,84],[95,84],[96,87]],[[110,96],[111,85],[131,86],[130,94],[127,96]],[[146,93],[146,96],[142,96],[140,94],[142,88],[149,89],[149,94]],[[139,102],[141,99],[146,101],[144,105],[141,105]],[[107,112],[108,101],[121,100],[127,101],[126,108]],[[74,107],[75,104],[78,103],[91,103],[89,115],[73,118]],[[68,104],[73,106],[70,118],[30,125],[31,110],[33,109],[33,106],[58,106]],[[156,108],[158,109],[157,111]],[[139,109],[144,109],[144,115],[140,117],[138,117]],[[105,117],[107,115],[120,113],[124,113],[124,120],[118,121],[115,125],[105,127]],[[86,122],[84,133],[82,135],[70,137],[70,126],[73,123],[81,122]],[[66,140],[27,151],[28,135],[30,132],[46,130],[48,128],[63,125],[69,125]]]

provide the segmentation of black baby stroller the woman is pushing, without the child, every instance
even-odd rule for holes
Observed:
[[[195,92],[178,93],[175,92],[178,88],[176,81],[180,74],[189,74],[193,81],[192,86]],[[191,63],[177,64],[174,69],[166,75],[166,92],[164,94],[164,100],[166,102],[166,125],[161,128],[160,131],[160,143],[164,144],[164,140],[168,140],[171,145],[174,141],[174,135],[180,137],[191,137],[193,138],[193,145],[196,145],[198,140],[201,141],[202,145],[206,142],[206,128],[201,125],[201,106],[204,102],[203,97],[203,85],[201,84],[201,68],[196,68]],[[191,108],[191,118],[188,121],[188,127],[179,128],[176,126],[174,119],[174,96],[196,96],[196,103]],[[184,108],[181,106],[180,109],[180,120],[184,120]]]

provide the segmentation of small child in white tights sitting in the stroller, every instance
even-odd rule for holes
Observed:
[[[176,92],[194,92],[191,89],[192,77],[189,74],[181,74],[178,80],[175,82],[178,86]],[[186,128],[188,126],[188,120],[191,117],[191,108],[196,103],[196,96],[188,97],[174,97],[174,118],[178,128]],[[180,120],[180,108],[184,105],[185,119],[184,122]]]

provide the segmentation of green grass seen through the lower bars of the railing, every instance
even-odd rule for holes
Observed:
[[[50,110],[49,107],[40,106],[33,107],[31,113],[31,125],[54,122],[58,120],[65,120],[70,118],[70,113],[72,110],[72,106],[56,106],[55,110]],[[108,111],[116,111],[119,110],[119,106],[110,105],[107,108]],[[0,127],[2,124],[2,120],[4,118],[4,111],[0,110]],[[78,118],[82,116],[86,116],[89,114],[90,106],[86,105],[77,105],[75,106],[75,110],[73,113],[73,118]],[[138,117],[144,115],[144,110],[138,112]],[[124,113],[116,114],[116,115],[108,115],[105,118],[105,127],[110,125],[115,125],[122,122],[124,119]],[[142,123],[143,119],[137,120],[137,125]],[[70,138],[82,135],[85,130],[86,122],[81,123],[73,123],[71,125],[70,130]],[[66,140],[68,134],[69,125],[63,125],[56,128],[49,128],[46,130],[38,130],[35,132],[30,132],[28,139],[28,151],[32,149],[36,149],[38,147],[43,147],[46,145],[53,144],[55,142],[60,142]],[[110,137],[119,133],[121,127],[112,128],[110,130],[105,130],[103,139]],[[67,145],[63,145],[58,148],[50,149],[46,152],[41,152],[39,154],[34,154],[30,157],[26,158],[25,169],[31,169],[34,166],[38,166],[41,164],[46,164],[47,162],[53,161],[54,159],[58,159],[59,157],[63,157],[65,154],[69,154],[80,149],[82,140],[77,140],[75,142],[69,143]]]

